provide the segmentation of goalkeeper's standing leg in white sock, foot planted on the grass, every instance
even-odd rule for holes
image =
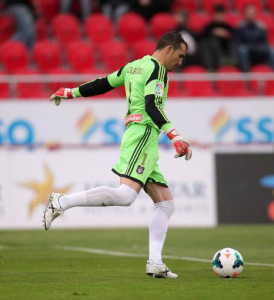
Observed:
[[[168,220],[174,211],[174,201],[167,187],[148,183],[146,192],[155,204],[155,213],[149,225],[149,260],[146,273],[157,278],[177,278],[162,261],[162,249],[166,239]]]

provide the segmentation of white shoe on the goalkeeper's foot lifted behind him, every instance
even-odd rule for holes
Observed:
[[[64,213],[63,209],[59,205],[58,199],[63,196],[59,193],[51,193],[49,195],[49,203],[44,211],[43,223],[46,230],[50,229],[50,225],[54,219]]]

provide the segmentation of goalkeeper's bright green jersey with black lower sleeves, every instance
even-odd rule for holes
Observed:
[[[77,96],[94,96],[118,86],[125,86],[128,112],[125,124],[150,125],[160,129],[171,126],[164,113],[168,92],[167,70],[154,57],[147,55],[128,63],[106,78],[79,87]]]

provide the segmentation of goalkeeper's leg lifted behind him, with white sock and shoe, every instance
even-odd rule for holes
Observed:
[[[121,185],[118,188],[100,186],[70,195],[51,193],[43,216],[45,229],[48,230],[54,219],[72,207],[131,205],[135,201],[141,185],[123,177],[121,177],[120,183]]]

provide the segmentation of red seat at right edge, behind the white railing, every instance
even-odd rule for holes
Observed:
[[[251,74],[274,74],[273,70],[268,65],[263,64],[252,67],[250,72]],[[274,95],[274,80],[264,80],[258,77],[258,80],[252,80],[250,85],[256,94]]]

